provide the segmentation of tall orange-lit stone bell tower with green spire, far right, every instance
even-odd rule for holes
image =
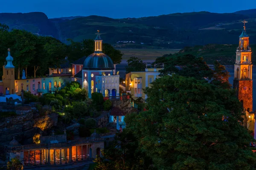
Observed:
[[[245,31],[247,21],[243,23],[244,30],[239,36],[239,46],[236,48],[233,88],[237,89],[238,99],[246,110],[247,118],[244,118],[244,126],[249,130],[254,130],[254,115],[250,114],[253,111],[252,52],[249,46],[249,36]]]

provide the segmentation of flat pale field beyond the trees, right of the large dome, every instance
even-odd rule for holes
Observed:
[[[180,49],[131,49],[118,48],[124,55],[122,59],[129,59],[130,57],[138,57],[140,59],[156,59],[162,57],[164,54],[174,54]]]

